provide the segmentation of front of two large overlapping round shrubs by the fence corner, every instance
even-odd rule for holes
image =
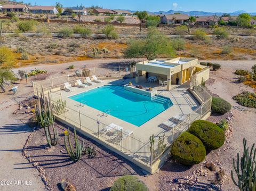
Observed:
[[[185,165],[194,165],[205,159],[206,150],[202,141],[189,132],[183,132],[174,140],[170,154]]]

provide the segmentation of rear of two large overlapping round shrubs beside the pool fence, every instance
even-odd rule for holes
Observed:
[[[221,147],[225,142],[225,133],[216,124],[210,121],[194,121],[188,129],[190,134],[202,140],[207,151]]]

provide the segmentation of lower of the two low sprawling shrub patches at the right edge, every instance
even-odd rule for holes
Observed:
[[[233,99],[240,105],[245,107],[254,107],[256,108],[256,95],[251,92],[243,92],[241,94],[237,94],[233,97]]]

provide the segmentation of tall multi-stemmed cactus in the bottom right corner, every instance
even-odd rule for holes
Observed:
[[[238,182],[234,179],[233,170],[231,170],[231,178],[236,186],[239,187],[241,191],[255,191],[256,189],[256,148],[252,145],[249,152],[249,147],[246,147],[246,139],[243,139],[244,153],[241,158],[239,158],[239,153],[237,153],[237,162],[233,159],[234,170],[237,175]],[[240,164],[240,167],[239,167]]]

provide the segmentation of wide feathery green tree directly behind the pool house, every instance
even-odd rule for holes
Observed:
[[[124,51],[126,58],[145,56],[147,60],[153,60],[158,55],[174,56],[174,49],[169,38],[162,35],[155,28],[149,28],[145,39],[130,40]]]

